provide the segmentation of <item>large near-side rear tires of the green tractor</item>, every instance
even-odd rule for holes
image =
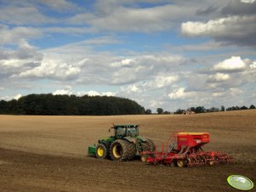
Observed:
[[[136,155],[136,146],[127,140],[117,139],[111,144],[111,159],[113,161],[128,161]]]

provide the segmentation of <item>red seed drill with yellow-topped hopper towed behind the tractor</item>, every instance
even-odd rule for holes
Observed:
[[[177,167],[195,167],[213,165],[231,161],[228,155],[220,152],[205,152],[202,145],[208,144],[209,133],[174,132],[169,139],[167,150],[161,152],[142,152],[142,157],[148,164],[164,164]]]

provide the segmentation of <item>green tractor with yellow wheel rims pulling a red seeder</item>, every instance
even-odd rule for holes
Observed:
[[[114,125],[111,128],[114,129],[114,135],[101,138],[98,144],[90,145],[88,155],[94,155],[99,159],[128,161],[135,156],[141,156],[142,151],[155,150],[155,144],[151,139],[139,136],[139,125]]]

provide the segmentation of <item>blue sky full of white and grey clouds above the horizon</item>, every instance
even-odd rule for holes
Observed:
[[[0,0],[0,99],[256,104],[254,0]]]

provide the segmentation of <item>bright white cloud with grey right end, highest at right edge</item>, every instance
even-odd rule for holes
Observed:
[[[188,37],[213,37],[223,44],[255,46],[255,15],[231,15],[215,20],[187,21],[181,32]]]

